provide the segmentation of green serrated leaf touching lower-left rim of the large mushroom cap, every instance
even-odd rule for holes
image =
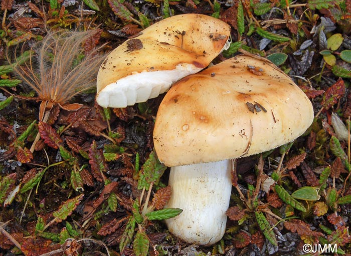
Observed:
[[[138,180],[138,189],[149,189],[150,183],[158,185],[159,179],[167,167],[160,163],[156,154],[152,151],[141,167],[141,173]]]

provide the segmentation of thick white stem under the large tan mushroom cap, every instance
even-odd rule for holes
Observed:
[[[189,242],[211,245],[225,232],[232,190],[231,161],[171,167],[172,195],[165,207],[181,208],[166,220],[171,233]]]

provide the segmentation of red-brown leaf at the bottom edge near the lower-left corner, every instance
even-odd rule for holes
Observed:
[[[51,240],[40,237],[28,238],[22,243],[21,250],[26,256],[39,256],[52,250],[51,243]]]

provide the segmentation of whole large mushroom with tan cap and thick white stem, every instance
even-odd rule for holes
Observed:
[[[268,60],[228,59],[175,83],[162,100],[153,140],[170,168],[165,207],[183,212],[166,220],[187,242],[210,245],[225,232],[231,159],[274,149],[313,121],[306,95]]]

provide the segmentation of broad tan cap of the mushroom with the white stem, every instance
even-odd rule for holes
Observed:
[[[313,121],[312,104],[268,60],[241,55],[175,83],[156,116],[166,166],[249,156],[288,143]]]

